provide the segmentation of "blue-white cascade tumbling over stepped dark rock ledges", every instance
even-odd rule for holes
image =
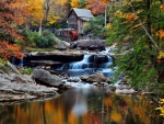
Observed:
[[[104,54],[85,54],[81,61],[65,64],[59,70],[65,70],[71,76],[92,75],[103,72],[107,77],[112,77],[113,58]]]

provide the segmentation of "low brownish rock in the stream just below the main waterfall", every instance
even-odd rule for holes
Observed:
[[[80,79],[85,82],[98,82],[98,83],[109,81],[109,79],[105,77],[102,72],[97,72],[95,75],[90,75],[90,76],[81,76]]]

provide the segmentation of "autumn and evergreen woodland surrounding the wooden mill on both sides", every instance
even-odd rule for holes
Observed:
[[[21,58],[28,48],[50,48],[56,36],[46,29],[67,27],[72,8],[91,10],[95,18],[84,29],[101,33],[106,46],[116,44],[116,54],[122,54],[115,79],[124,72],[136,89],[163,97],[163,0],[0,0],[0,61]]]

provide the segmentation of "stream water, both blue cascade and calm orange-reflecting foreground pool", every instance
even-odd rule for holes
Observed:
[[[103,72],[113,77],[112,57],[84,55],[57,71],[71,77]],[[155,104],[142,94],[116,94],[84,83],[59,97],[0,106],[0,124],[163,124]],[[104,92],[106,91],[106,92]]]

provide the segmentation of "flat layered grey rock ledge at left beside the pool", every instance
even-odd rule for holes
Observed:
[[[0,74],[0,102],[54,97],[58,88],[36,84],[27,75]]]

